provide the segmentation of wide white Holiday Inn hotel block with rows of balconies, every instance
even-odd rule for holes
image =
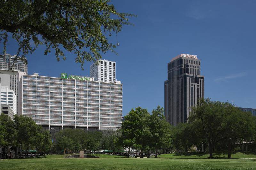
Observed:
[[[99,130],[121,127],[121,82],[66,75],[62,73],[60,78],[22,75],[20,113],[55,131],[65,127]]]

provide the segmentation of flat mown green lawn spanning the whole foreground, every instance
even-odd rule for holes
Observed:
[[[0,169],[256,169],[256,159],[204,159],[196,157],[196,154],[183,158],[182,155],[164,154],[159,155],[162,158],[158,159],[120,156],[116,158],[116,155],[104,155],[104,158],[67,159],[60,156],[62,155],[0,160]]]

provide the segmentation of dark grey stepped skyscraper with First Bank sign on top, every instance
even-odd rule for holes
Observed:
[[[164,82],[164,112],[167,122],[187,122],[191,107],[204,98],[204,76],[196,55],[180,54],[168,63]]]

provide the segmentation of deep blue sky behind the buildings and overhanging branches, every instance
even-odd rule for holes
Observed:
[[[116,78],[123,83],[123,115],[131,108],[149,112],[164,107],[167,63],[181,53],[197,55],[205,76],[205,97],[229,101],[239,107],[256,108],[256,1],[149,1],[114,0],[119,12],[136,14],[135,26],[124,26],[113,42],[118,56],[108,52],[103,59],[116,61]],[[1,44],[2,49],[2,44]],[[16,42],[7,52],[15,54]],[[54,52],[44,56],[40,46],[28,58],[28,73],[58,77],[61,72],[88,75],[89,65],[57,62]]]

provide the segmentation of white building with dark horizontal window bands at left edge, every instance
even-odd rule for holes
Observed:
[[[1,86],[1,104],[9,105],[13,113],[17,114],[16,95],[13,90],[6,86]]]

